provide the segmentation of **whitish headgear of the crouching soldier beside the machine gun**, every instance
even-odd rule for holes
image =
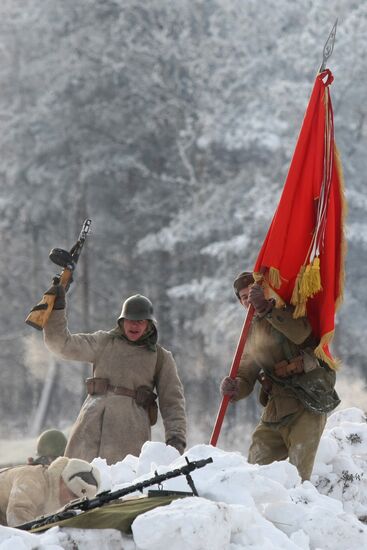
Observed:
[[[101,476],[98,469],[79,458],[68,459],[61,477],[68,489],[79,498],[95,497],[101,486]]]

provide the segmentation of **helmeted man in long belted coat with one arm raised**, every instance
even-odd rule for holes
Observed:
[[[157,343],[150,300],[128,298],[113,330],[71,334],[65,314],[65,289],[53,285],[53,311],[44,327],[46,346],[64,359],[90,362],[88,396],[72,429],[65,455],[108,464],[139,455],[162,415],[165,440],[181,454],[186,446],[183,387],[172,354]],[[154,392],[156,390],[157,393]]]

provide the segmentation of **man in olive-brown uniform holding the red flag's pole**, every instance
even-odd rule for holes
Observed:
[[[253,305],[255,316],[237,377],[225,377],[221,393],[238,401],[259,380],[265,408],[252,434],[248,461],[269,464],[289,458],[302,480],[309,479],[326,415],[340,403],[335,371],[315,356],[317,342],[307,318],[294,319],[292,306],[276,308],[252,273],[240,273],[234,290],[245,308]]]

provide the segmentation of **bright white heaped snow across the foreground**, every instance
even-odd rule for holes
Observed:
[[[311,482],[288,462],[250,465],[238,452],[197,445],[189,460],[213,458],[192,477],[199,497],[139,516],[132,536],[52,528],[34,535],[0,527],[0,550],[363,550],[367,549],[367,418],[357,408],[329,417]],[[95,459],[103,489],[118,489],[185,464],[175,449],[146,443],[113,466]],[[188,490],[184,477],[164,488]]]

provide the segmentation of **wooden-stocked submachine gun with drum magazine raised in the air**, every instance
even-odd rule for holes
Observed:
[[[63,250],[62,248],[53,248],[51,250],[49,254],[50,260],[63,268],[61,273],[54,277],[54,284],[61,284],[66,289],[69,288],[69,285],[73,280],[73,272],[79,260],[79,256],[84,246],[85,239],[87,238],[91,223],[92,222],[90,219],[86,219],[84,221],[78,240],[70,252]],[[55,298],[55,294],[44,294],[42,300],[32,308],[25,322],[31,327],[42,330],[51,314]]]

